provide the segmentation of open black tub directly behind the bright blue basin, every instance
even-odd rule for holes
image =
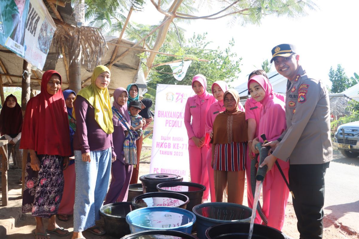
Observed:
[[[177,192],[149,192],[132,199],[132,205],[138,209],[142,207],[180,207],[186,209],[190,199]]]

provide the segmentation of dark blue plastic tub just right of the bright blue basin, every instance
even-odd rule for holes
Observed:
[[[193,208],[197,218],[197,237],[206,239],[206,230],[210,226],[230,222],[251,222],[252,209],[229,202],[208,202]]]

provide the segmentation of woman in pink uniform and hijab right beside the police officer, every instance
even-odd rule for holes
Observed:
[[[262,75],[253,76],[248,81],[248,90],[252,98],[262,104],[260,122],[257,125],[258,135],[265,134],[269,141],[276,140],[286,129],[283,97],[273,94],[271,83]],[[258,142],[263,143],[262,138],[253,139],[253,152],[256,151],[254,145]],[[278,162],[288,181],[289,162]],[[268,219],[268,226],[278,230],[283,228],[288,196],[289,189],[275,165],[267,172],[263,182],[262,209]]]

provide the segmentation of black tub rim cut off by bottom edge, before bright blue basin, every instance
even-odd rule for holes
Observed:
[[[198,239],[193,235],[172,230],[148,230],[140,231],[131,235],[124,236],[121,239]]]

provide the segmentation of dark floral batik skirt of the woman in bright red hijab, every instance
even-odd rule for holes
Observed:
[[[39,171],[32,170],[30,154],[27,157],[22,212],[31,212],[32,216],[41,218],[51,218],[57,214],[64,191],[64,159],[59,155],[47,154],[37,157],[40,161]]]

